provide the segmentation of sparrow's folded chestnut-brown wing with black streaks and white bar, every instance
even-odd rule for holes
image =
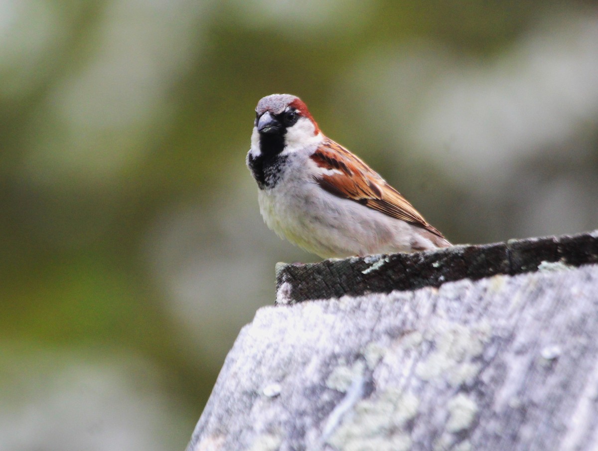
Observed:
[[[316,182],[329,193],[354,200],[443,237],[401,193],[340,144],[325,139],[311,158],[322,168],[322,173],[314,177]]]

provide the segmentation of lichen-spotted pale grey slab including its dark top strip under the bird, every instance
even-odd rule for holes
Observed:
[[[326,261],[317,286],[340,298],[299,303],[294,273],[289,305],[240,332],[188,450],[598,449],[595,258],[596,233]],[[432,286],[355,287],[390,268]]]

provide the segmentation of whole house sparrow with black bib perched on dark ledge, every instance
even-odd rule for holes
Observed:
[[[258,102],[246,163],[268,227],[322,258],[450,246],[378,173],[327,138],[298,97]]]

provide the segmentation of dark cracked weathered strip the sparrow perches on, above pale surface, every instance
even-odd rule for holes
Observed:
[[[598,263],[598,230],[573,236],[458,245],[414,254],[371,255],[276,266],[276,303],[440,287],[460,279],[516,275]]]

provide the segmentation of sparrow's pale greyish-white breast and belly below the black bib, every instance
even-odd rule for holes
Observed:
[[[410,224],[324,191],[307,157],[289,156],[276,187],[260,190],[264,221],[280,237],[324,258],[410,251]]]

